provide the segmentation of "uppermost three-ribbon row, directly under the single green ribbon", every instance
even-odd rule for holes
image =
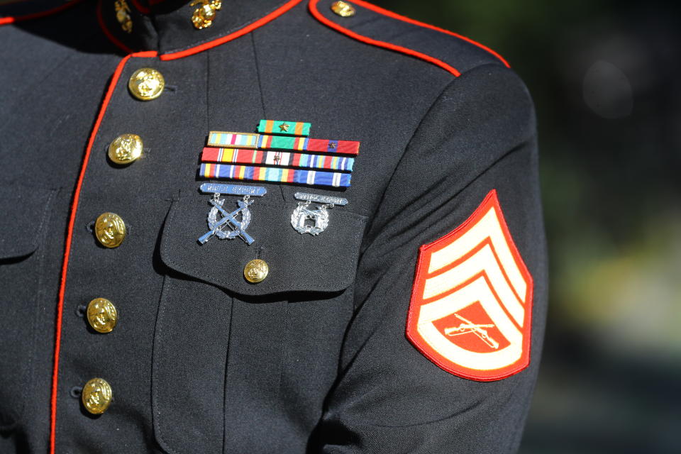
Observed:
[[[355,140],[311,139],[254,133],[223,133],[211,131],[208,146],[218,148],[260,148],[264,150],[296,150],[317,153],[357,155],[360,143]]]

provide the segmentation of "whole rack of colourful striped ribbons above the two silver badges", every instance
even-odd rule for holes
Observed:
[[[199,177],[349,187],[360,143],[309,138],[310,128],[299,121],[260,120],[257,133],[211,131]]]

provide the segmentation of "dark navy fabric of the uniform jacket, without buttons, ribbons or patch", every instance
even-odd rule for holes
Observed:
[[[96,19],[99,7],[118,27],[113,2],[98,3],[0,27],[0,453],[48,450],[71,202],[123,57]],[[215,27],[196,31],[193,7],[164,3],[150,15],[133,11],[129,38],[143,49],[196,45],[284,4],[223,2]],[[345,21],[327,12],[330,4],[319,9],[331,20],[465,72],[456,78],[352,40],[316,21],[306,2],[195,55],[131,57],[73,207],[56,453],[516,450],[546,312],[531,99],[514,72],[470,43],[365,9]],[[128,92],[141,67],[165,77],[153,101]],[[253,131],[261,118],[309,121],[313,138],[360,140],[352,186],[256,183],[267,194],[251,206],[255,243],[199,245],[211,197],[199,193],[196,177],[206,135]],[[144,142],[143,157],[125,167],[106,157],[123,133]],[[405,326],[419,246],[459,226],[492,189],[535,283],[531,363],[504,380],[476,382],[421,355]],[[301,190],[349,203],[331,209],[319,236],[301,236],[289,223]],[[239,197],[225,199],[236,206]],[[118,248],[93,236],[104,211],[128,227]],[[253,258],[270,265],[260,284],[243,278]],[[118,309],[111,333],[84,320],[82,307],[96,297]],[[78,396],[92,377],[113,389],[101,416]]]

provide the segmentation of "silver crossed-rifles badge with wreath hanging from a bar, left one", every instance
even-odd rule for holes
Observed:
[[[210,201],[213,207],[208,213],[208,228],[210,230],[199,238],[199,243],[206,243],[212,236],[217,236],[221,240],[241,238],[248,245],[255,241],[246,232],[251,218],[248,207],[253,204],[250,197],[264,196],[267,194],[267,189],[260,186],[242,186],[240,184],[204,183],[201,184],[201,192],[213,194]],[[243,199],[236,201],[238,208],[233,210],[226,206],[226,199],[220,198],[222,194],[241,195]]]

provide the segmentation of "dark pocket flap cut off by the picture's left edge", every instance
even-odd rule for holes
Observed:
[[[0,260],[38,249],[54,194],[52,189],[0,186]]]

